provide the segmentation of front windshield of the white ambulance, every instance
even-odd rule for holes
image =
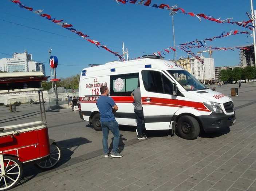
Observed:
[[[168,72],[186,91],[208,89],[186,70],[168,70]]]

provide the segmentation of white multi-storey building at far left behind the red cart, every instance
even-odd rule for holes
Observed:
[[[27,51],[24,53],[14,53],[12,58],[0,59],[0,71],[6,72],[32,72],[41,71],[44,75],[45,65],[32,60],[32,54],[28,54]]]

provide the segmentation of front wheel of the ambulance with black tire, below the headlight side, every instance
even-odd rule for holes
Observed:
[[[194,117],[185,115],[178,119],[177,130],[182,138],[193,140],[198,137],[200,126]]]

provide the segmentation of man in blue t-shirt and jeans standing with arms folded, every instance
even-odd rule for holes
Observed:
[[[122,157],[123,155],[118,153],[118,144],[120,139],[118,123],[115,120],[114,112],[118,110],[117,105],[112,97],[109,97],[109,88],[102,86],[100,89],[101,96],[97,99],[97,107],[101,116],[101,128],[103,133],[102,145],[104,150],[104,156],[109,156],[109,147],[107,144],[107,138],[109,137],[109,130],[114,135],[113,151],[111,157]]]

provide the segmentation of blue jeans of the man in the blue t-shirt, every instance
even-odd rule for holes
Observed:
[[[119,145],[119,139],[120,139],[120,134],[119,134],[117,121],[116,120],[107,121],[107,122],[102,122],[101,121],[101,128],[102,128],[102,133],[103,133],[102,145],[103,145],[104,153],[109,154],[109,147],[108,147],[108,144],[107,144],[107,138],[109,137],[109,130],[114,135],[113,151],[112,152],[117,153],[118,145]]]

